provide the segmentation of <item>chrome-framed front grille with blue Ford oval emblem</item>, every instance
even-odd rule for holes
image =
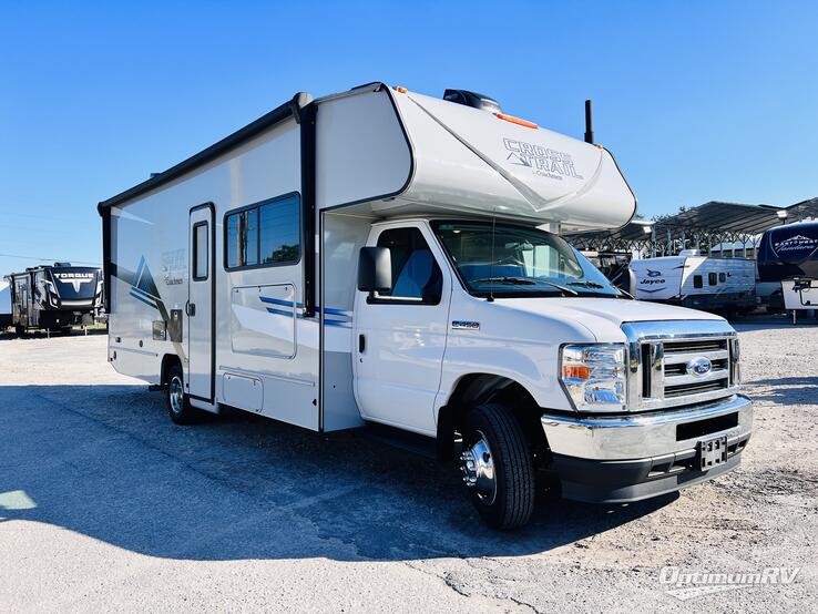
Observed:
[[[727,323],[634,323],[622,328],[630,341],[632,410],[694,405],[738,390],[738,341]],[[696,364],[709,364],[709,369],[697,372]]]

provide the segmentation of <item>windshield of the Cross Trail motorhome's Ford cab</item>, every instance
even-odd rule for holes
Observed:
[[[477,296],[605,296],[620,293],[558,235],[508,223],[432,223],[466,289]],[[493,236],[493,242],[492,242]]]

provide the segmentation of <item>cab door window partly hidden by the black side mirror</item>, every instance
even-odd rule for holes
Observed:
[[[378,293],[377,299],[420,305],[440,303],[443,276],[418,228],[384,231],[378,237],[378,247],[388,247],[391,254],[392,287]]]

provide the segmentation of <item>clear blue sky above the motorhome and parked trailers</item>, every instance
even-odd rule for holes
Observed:
[[[492,95],[616,156],[645,217],[818,196],[818,2],[0,0],[0,275],[101,263],[96,203],[290,99]]]

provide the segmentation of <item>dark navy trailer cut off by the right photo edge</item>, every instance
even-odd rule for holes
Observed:
[[[787,224],[764,233],[758,246],[758,295],[768,310],[815,309],[818,304],[815,286],[818,286],[818,222]],[[808,291],[812,293],[809,298]]]

